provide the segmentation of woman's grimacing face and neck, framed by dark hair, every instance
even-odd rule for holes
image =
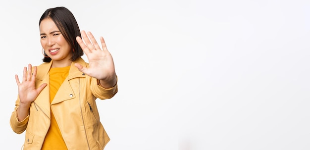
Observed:
[[[71,64],[71,46],[51,18],[41,21],[40,37],[42,48],[52,58],[53,64]]]

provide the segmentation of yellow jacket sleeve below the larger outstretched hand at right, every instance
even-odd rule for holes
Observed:
[[[118,92],[117,81],[113,87],[105,89],[99,84],[98,79],[91,78],[90,88],[91,88],[93,95],[100,100],[111,99]]]

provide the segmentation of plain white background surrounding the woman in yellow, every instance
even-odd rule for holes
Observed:
[[[55,6],[114,58],[119,92],[97,101],[105,150],[310,149],[309,0],[5,0],[1,150],[23,144],[14,75],[42,63],[39,19]]]

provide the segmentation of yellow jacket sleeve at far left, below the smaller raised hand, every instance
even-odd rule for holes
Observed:
[[[19,107],[19,98],[17,98],[16,102],[15,102],[15,108],[14,111],[11,114],[11,118],[10,118],[10,126],[12,128],[12,130],[17,133],[17,134],[21,134],[23,133],[26,128],[27,128],[27,124],[28,124],[28,119],[29,119],[29,114],[28,116],[22,120],[22,121],[18,121],[17,118],[17,108]]]

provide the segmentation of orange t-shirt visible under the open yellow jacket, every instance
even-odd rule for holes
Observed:
[[[68,76],[70,66],[50,69],[50,102],[54,99],[59,87]],[[45,137],[41,150],[68,150],[51,109],[51,126]]]

